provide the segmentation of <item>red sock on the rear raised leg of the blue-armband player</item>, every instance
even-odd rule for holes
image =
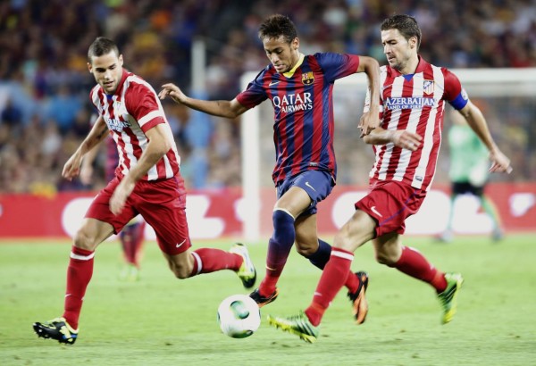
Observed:
[[[445,274],[428,262],[423,254],[409,246],[402,247],[400,259],[392,267],[408,276],[431,284],[438,293],[447,288]]]

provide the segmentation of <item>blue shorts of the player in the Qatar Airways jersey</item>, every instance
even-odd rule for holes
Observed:
[[[300,187],[311,198],[311,204],[302,215],[314,215],[318,210],[316,204],[331,194],[335,180],[327,171],[305,171],[283,180],[277,185],[277,199],[281,198],[291,187]]]

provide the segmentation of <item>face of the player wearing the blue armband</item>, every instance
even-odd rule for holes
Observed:
[[[381,44],[389,66],[403,74],[409,61],[417,57],[417,38],[406,39],[398,29],[382,30]]]

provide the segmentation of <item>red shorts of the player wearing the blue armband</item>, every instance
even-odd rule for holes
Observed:
[[[368,195],[357,201],[355,206],[378,222],[376,237],[381,237],[391,232],[404,234],[406,219],[419,211],[424,197],[426,191],[406,183],[373,180]]]

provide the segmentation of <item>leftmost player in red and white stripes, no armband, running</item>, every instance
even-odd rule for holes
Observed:
[[[84,155],[110,131],[118,146],[119,165],[115,177],[93,199],[74,237],[63,315],[33,324],[38,337],[68,345],[79,336],[80,312],[93,275],[96,247],[138,214],[155,229],[156,241],[178,279],[218,270],[235,271],[246,288],[254,287],[256,279],[244,245],[233,245],[230,252],[191,249],[180,155],[153,87],[123,69],[122,54],[113,40],[105,37],[97,37],[89,46],[88,70],[97,83],[90,99],[99,116],[88,137],[65,162],[62,175],[69,180],[79,175]]]

